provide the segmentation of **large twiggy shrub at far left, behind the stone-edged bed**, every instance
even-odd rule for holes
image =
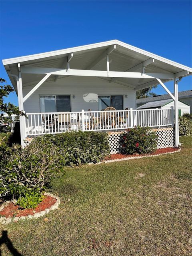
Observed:
[[[39,145],[32,141],[24,149],[19,145],[7,146],[1,157],[0,196],[12,199],[44,190],[63,164],[58,147],[50,142]]]

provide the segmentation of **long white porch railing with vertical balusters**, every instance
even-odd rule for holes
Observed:
[[[26,136],[67,131],[126,130],[134,126],[165,127],[174,122],[173,108],[147,110],[27,113]]]

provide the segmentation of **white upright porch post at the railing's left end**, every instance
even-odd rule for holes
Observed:
[[[19,81],[17,82],[17,92],[18,92],[19,109],[24,112],[21,72],[19,72]],[[26,137],[25,117],[24,116],[20,116],[19,121],[20,121],[21,146],[24,147],[25,146],[24,140],[25,140],[25,137]]]

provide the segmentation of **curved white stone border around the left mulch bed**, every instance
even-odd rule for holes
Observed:
[[[50,208],[47,208],[47,209],[45,209],[44,211],[41,211],[41,212],[36,212],[34,215],[29,214],[28,216],[20,216],[20,217],[14,217],[14,218],[0,217],[0,223],[6,225],[6,224],[9,224],[12,221],[17,222],[18,220],[25,220],[25,219],[31,219],[31,218],[39,218],[39,217],[44,216],[45,214],[48,214],[49,211],[57,209],[58,206],[60,205],[60,199],[58,198],[58,196],[54,196],[53,194],[46,193],[46,192],[44,193],[44,195],[56,198],[56,202]],[[8,203],[10,203],[10,201],[6,201],[4,204],[2,204],[2,206],[0,207],[0,211],[2,211],[3,208]]]

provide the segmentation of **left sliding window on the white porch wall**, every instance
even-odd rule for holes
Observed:
[[[40,96],[41,112],[70,112],[70,95]]]

